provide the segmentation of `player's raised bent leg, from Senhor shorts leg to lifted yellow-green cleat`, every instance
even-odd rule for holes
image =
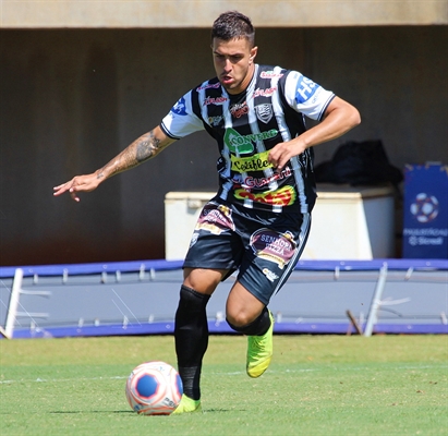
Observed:
[[[270,298],[296,265],[310,232],[308,214],[282,214],[239,221],[245,253],[238,281],[229,294],[227,316],[237,331],[247,335],[246,371],[259,377],[273,356],[274,318]]]

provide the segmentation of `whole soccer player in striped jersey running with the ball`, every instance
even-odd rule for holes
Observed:
[[[201,213],[184,262],[175,313],[175,352],[184,385],[174,413],[201,410],[199,377],[208,346],[207,302],[234,270],[226,316],[247,336],[246,371],[259,377],[273,355],[267,305],[294,268],[315,203],[312,147],[360,123],[358,110],[296,71],[254,62],[249,17],[221,14],[211,29],[216,77],[186,93],[160,125],[104,168],[55,187],[55,195],[95,190],[199,130],[218,143],[220,186]],[[304,117],[320,123],[306,130]]]

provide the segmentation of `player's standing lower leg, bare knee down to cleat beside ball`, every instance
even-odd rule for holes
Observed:
[[[208,346],[206,306],[225,274],[219,269],[184,269],[174,328],[184,396],[175,413],[193,412],[199,408],[202,361]]]

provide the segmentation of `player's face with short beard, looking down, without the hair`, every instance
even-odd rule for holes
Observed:
[[[211,44],[216,75],[229,94],[240,94],[251,83],[257,47],[245,39],[225,41],[214,38]]]

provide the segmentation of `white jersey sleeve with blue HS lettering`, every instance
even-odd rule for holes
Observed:
[[[288,105],[298,112],[312,120],[322,120],[335,94],[298,71],[291,71],[286,80],[284,97]]]

